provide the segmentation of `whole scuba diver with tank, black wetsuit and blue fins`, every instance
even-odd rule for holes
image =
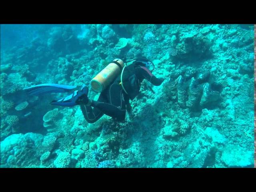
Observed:
[[[123,60],[115,59],[91,80],[92,89],[101,92],[98,100],[88,98],[88,87],[51,102],[52,105],[72,107],[80,105],[84,118],[88,123],[94,123],[104,114],[117,121],[125,120],[126,110],[131,112],[129,100],[133,100],[140,91],[144,79],[155,86],[160,86],[164,78],[156,78],[152,74],[154,64],[144,58],[130,60],[126,66]],[[29,95],[41,95],[53,92],[69,92],[76,86],[59,84],[40,84],[25,88]]]

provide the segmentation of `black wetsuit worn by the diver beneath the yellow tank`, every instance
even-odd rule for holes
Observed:
[[[103,114],[106,114],[118,121],[123,121],[126,116],[126,110],[128,112],[131,110],[129,100],[133,100],[139,94],[140,85],[144,79],[155,86],[159,86],[164,81],[163,78],[156,78],[144,66],[135,65],[134,63],[127,66],[122,77],[122,83],[126,91],[120,84],[120,75],[100,93],[97,101],[92,100],[90,106],[80,105],[84,118],[88,123],[94,123]]]

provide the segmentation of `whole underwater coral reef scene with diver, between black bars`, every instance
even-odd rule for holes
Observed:
[[[253,168],[253,24],[1,24],[1,168]]]

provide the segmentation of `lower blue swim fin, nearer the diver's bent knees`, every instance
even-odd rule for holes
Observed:
[[[51,102],[52,105],[58,105],[58,106],[64,106],[64,107],[72,107],[79,104],[87,104],[88,103],[88,87],[85,85],[82,86],[82,89],[80,91],[74,91],[74,93],[58,99],[53,100]]]

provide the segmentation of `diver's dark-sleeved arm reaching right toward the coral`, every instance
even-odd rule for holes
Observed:
[[[146,67],[143,66],[135,68],[135,72],[138,74],[138,76],[142,76],[155,86],[161,85],[164,81],[164,78],[157,78]]]

